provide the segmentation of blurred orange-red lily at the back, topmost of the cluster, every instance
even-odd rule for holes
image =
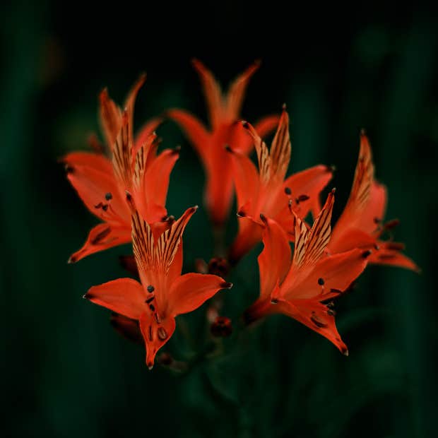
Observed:
[[[199,73],[206,96],[211,131],[182,109],[170,109],[167,115],[181,126],[203,162],[207,177],[206,206],[213,223],[220,226],[225,223],[230,211],[233,191],[230,156],[225,146],[232,146],[243,154],[251,150],[250,139],[237,121],[249,78],[258,69],[259,63],[252,64],[238,76],[226,94],[223,94],[211,71],[200,61],[195,59],[193,65]],[[261,136],[266,136],[275,129],[277,122],[277,116],[265,117],[256,124],[256,128]]]

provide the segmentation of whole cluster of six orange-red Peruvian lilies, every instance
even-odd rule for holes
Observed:
[[[336,329],[333,300],[350,288],[367,264],[418,271],[402,254],[403,244],[393,242],[391,230],[397,221],[384,222],[386,189],[374,179],[371,148],[363,132],[350,198],[332,227],[335,190],[322,208],[320,194],[333,168],[316,165],[286,176],[291,144],[285,106],[280,116],[265,117],[254,126],[240,119],[245,90],[258,66],[251,65],[223,93],[211,71],[194,61],[211,129],[182,109],[169,109],[134,135],[134,103],[146,76],[136,82],[123,107],[103,90],[104,143],[93,137],[93,151],[69,153],[62,159],[69,182],[101,221],[69,262],[132,242],[134,256],[123,261],[139,281],[112,280],[90,288],[84,297],[111,309],[114,324],[143,341],[149,368],[174,333],[175,317],[231,288],[223,276],[259,242],[264,244],[258,258],[260,296],[244,312],[245,324],[285,314],[325,336],[345,355],[348,349]],[[187,208],[177,220],[165,206],[170,173],[179,157],[179,148],[158,153],[155,129],[165,118],[182,128],[201,158],[205,205],[215,232],[223,230],[234,192],[237,198],[237,235],[226,252],[216,254],[223,257],[200,270],[203,273],[182,275],[184,229],[197,206]],[[273,131],[268,148],[263,138]],[[253,146],[256,165],[249,158]],[[314,218],[312,224],[309,216]],[[213,336],[230,334],[230,319],[214,311],[208,319]]]

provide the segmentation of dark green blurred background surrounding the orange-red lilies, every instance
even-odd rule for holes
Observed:
[[[287,11],[221,1],[141,5],[2,2],[0,70],[1,398],[5,437],[434,437],[437,412],[438,18],[426,8],[371,5]],[[283,316],[235,333],[224,355],[189,374],[155,367],[141,346],[82,300],[91,285],[126,276],[129,246],[67,265],[95,218],[57,162],[97,131],[97,95],[122,102],[141,71],[137,126],[167,107],[206,119],[191,57],[227,85],[254,59],[242,115],[254,121],[286,102],[290,171],[336,165],[335,217],[350,191],[359,131],[372,141],[389,189],[387,218],[422,267],[372,266],[338,301],[350,348]],[[203,170],[182,146],[168,209],[202,204]],[[232,216],[228,235],[236,227]],[[205,211],[187,228],[184,269],[213,254]],[[256,256],[231,274],[223,313],[233,321],[257,295]],[[225,292],[224,292],[225,293]],[[166,350],[205,345],[205,307],[180,318]]]

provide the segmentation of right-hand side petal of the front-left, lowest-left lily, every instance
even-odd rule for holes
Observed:
[[[170,288],[167,312],[172,316],[192,312],[221,289],[231,288],[223,278],[210,274],[187,273]]]

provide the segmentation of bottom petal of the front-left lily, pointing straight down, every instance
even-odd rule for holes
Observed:
[[[153,312],[143,312],[140,316],[140,329],[146,344],[146,365],[152,369],[158,350],[169,341],[175,331],[175,319],[161,318]]]

